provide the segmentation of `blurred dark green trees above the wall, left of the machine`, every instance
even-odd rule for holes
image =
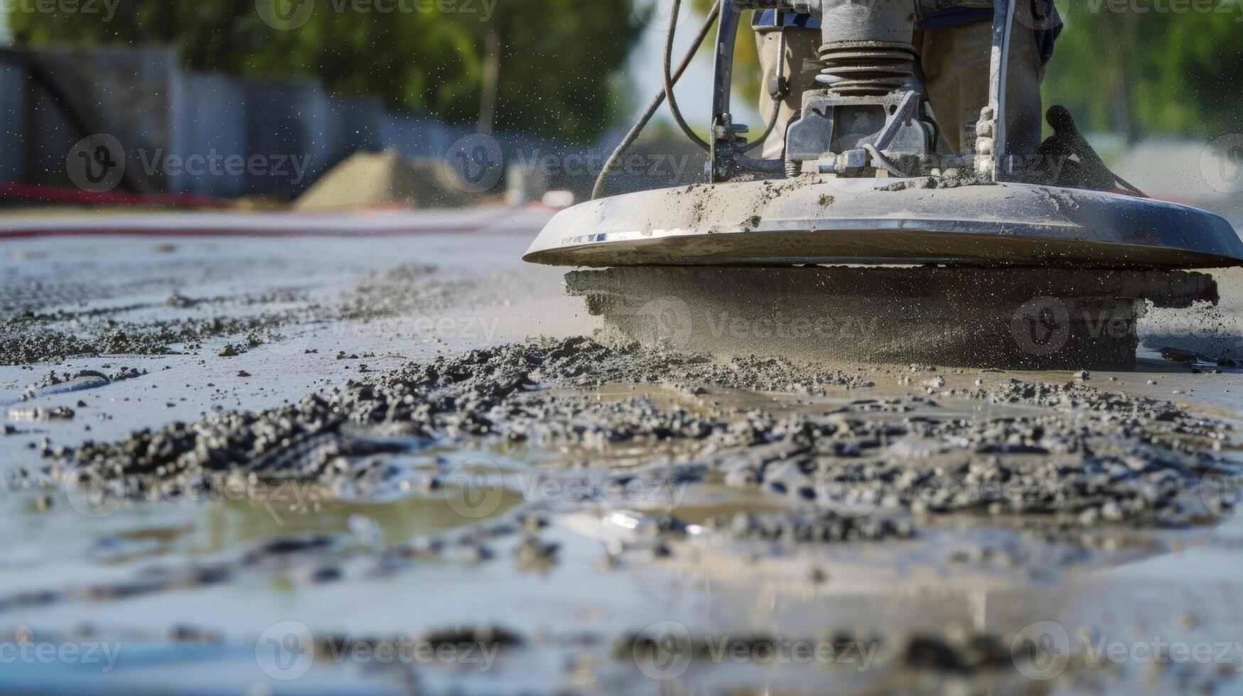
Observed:
[[[255,0],[117,0],[109,21],[19,2],[10,26],[20,46],[170,45],[189,70],[317,76],[337,94],[576,142],[624,116],[609,97],[639,35],[630,0],[272,1],[313,11],[282,30]]]

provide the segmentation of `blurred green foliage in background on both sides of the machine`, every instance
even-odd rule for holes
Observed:
[[[111,22],[16,4],[10,25],[22,45],[174,45],[191,70],[319,76],[334,93],[380,94],[393,107],[450,122],[477,118],[484,47],[498,40],[500,129],[587,142],[635,103],[620,73],[643,27],[633,0],[498,0],[487,22],[480,14],[337,12],[333,2],[343,0],[314,0],[310,24],[295,31],[264,24],[254,0],[118,1]],[[1045,102],[1068,106],[1084,130],[1127,139],[1238,130],[1243,0],[1199,1],[1191,6],[1211,11],[1134,11],[1157,7],[1154,0],[1057,0],[1066,30],[1049,66]],[[691,0],[684,11],[710,5]],[[710,55],[705,46],[700,60]],[[746,29],[737,57],[736,88],[745,99],[758,89],[755,37]]]

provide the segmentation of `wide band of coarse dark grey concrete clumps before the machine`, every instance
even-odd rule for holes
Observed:
[[[333,482],[358,475],[354,460],[418,442],[492,442],[571,457],[629,446],[643,452],[628,462],[640,475],[664,471],[661,461],[695,462],[701,474],[687,480],[720,476],[730,486],[783,497],[793,511],[784,518],[745,518],[747,524],[731,522],[728,529],[791,541],[909,536],[907,527],[874,515],[894,511],[1163,526],[1214,512],[1197,502],[1213,496],[1196,493],[1218,464],[1213,446],[1226,424],[1080,383],[1012,382],[981,392],[977,396],[997,404],[1040,406],[1040,413],[971,419],[912,416],[938,408],[919,396],[777,416],[582,393],[613,382],[786,384],[802,393],[835,379],[824,373],[789,380],[797,370],[781,360],[713,363],[587,338],[532,341],[410,364],[270,411],[219,410],[195,424],[50,454],[70,460],[80,477],[241,472]],[[894,418],[875,418],[878,408]],[[393,435],[400,437],[388,439]],[[383,469],[383,460],[374,466]]]

